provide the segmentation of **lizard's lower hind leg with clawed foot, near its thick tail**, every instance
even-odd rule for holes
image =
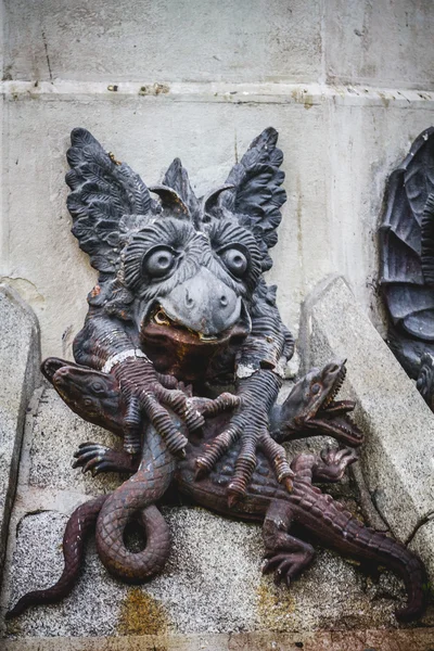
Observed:
[[[267,511],[263,526],[266,563],[263,573],[275,572],[275,583],[286,585],[309,565],[315,550],[288,531],[292,522],[291,506],[283,500],[273,500]]]

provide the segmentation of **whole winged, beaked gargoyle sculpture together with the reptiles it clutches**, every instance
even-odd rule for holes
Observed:
[[[131,476],[78,507],[65,531],[62,577],[22,597],[9,616],[72,589],[92,524],[114,576],[140,583],[159,572],[170,539],[156,505],[169,485],[219,513],[264,522],[264,571],[277,580],[289,584],[312,559],[311,546],[289,533],[299,521],[326,545],[398,573],[408,590],[398,617],[422,612],[420,560],[312,486],[339,481],[354,450],[298,455],[290,463],[281,446],[328,434],[355,447],[362,434],[349,418],[354,404],[335,400],[342,361],[311,370],[276,405],[294,349],[276,288],[263,278],[285,201],[277,137],[266,129],[225,186],[197,200],[180,161],[148,189],[88,131],[73,131],[68,208],[99,282],[74,343],[77,363],[49,358],[42,371],[74,411],[123,438],[118,450],[82,444],[75,465]],[[233,393],[219,390],[225,384]],[[140,552],[124,541],[133,519],[146,534]]]

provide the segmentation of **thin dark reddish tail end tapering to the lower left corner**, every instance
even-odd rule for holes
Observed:
[[[5,617],[12,620],[21,615],[28,607],[60,601],[71,592],[80,571],[85,550],[86,534],[95,523],[107,495],[85,502],[74,511],[63,536],[63,557],[65,566],[62,576],[51,588],[34,590],[24,595]]]

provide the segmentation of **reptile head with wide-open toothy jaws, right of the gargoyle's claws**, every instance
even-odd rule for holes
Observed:
[[[335,399],[345,375],[345,361],[331,361],[322,369],[311,369],[294,385],[282,407],[285,427],[321,431],[346,445],[361,445],[362,432],[348,414],[355,403]]]

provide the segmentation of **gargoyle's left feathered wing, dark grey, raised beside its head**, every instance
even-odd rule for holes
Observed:
[[[125,235],[151,210],[152,200],[139,175],[115,161],[89,131],[74,129],[71,141],[66,183],[72,189],[72,231],[92,267],[114,273]]]

